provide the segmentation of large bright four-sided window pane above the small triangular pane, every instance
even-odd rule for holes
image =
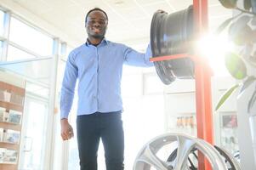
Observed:
[[[9,40],[41,56],[53,53],[54,39],[11,17]]]

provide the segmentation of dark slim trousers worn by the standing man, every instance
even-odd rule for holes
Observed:
[[[81,170],[97,170],[100,139],[106,170],[123,170],[124,139],[121,111],[77,116],[77,143]]]

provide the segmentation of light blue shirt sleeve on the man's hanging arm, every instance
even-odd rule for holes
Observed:
[[[60,93],[60,119],[68,117],[74,99],[74,91],[78,75],[74,57],[75,55],[71,52],[65,65],[65,74]]]

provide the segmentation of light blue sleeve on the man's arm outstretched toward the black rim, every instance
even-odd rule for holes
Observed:
[[[125,60],[124,63],[127,65],[144,66],[144,67],[153,66],[154,65],[153,62],[150,61],[151,56],[152,56],[152,53],[151,53],[150,44],[146,48],[145,54],[139,53],[133,48],[128,48],[126,46],[124,49],[124,60]]]

